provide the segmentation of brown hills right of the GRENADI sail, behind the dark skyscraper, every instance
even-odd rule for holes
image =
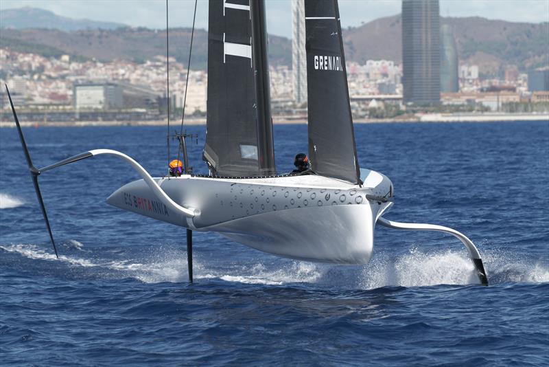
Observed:
[[[499,74],[505,65],[526,70],[549,65],[549,23],[512,23],[478,16],[441,17],[452,27],[461,61],[476,64],[485,75]],[[385,58],[401,63],[401,16],[388,16],[343,30],[347,60],[364,63]]]

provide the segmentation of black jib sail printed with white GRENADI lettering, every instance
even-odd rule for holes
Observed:
[[[305,32],[311,168],[361,183],[337,0],[305,0]]]

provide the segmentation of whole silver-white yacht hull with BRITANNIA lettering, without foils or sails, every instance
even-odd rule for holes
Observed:
[[[163,205],[147,183],[119,188],[107,202],[278,256],[324,263],[365,264],[373,250],[375,222],[389,208],[387,177],[362,170],[364,185],[317,175],[220,179],[184,175],[154,179],[189,217]]]

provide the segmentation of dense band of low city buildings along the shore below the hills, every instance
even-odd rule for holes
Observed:
[[[21,121],[165,118],[165,56],[155,56],[143,63],[129,60],[106,63],[99,60],[72,60],[62,56],[47,58],[0,49],[0,61],[0,83],[6,82],[10,87]],[[441,106],[426,106],[426,109],[538,113],[549,109],[548,91],[528,91],[528,87],[536,88],[536,85],[537,88],[546,88],[544,72],[547,71],[544,69],[530,73],[529,86],[527,74],[518,71],[517,76],[513,65],[505,70],[505,80],[480,76],[478,66],[466,63],[460,65],[459,71],[460,93],[443,93]],[[379,116],[405,113],[402,65],[393,60],[366,60],[364,63],[349,61],[347,72],[354,118],[372,118],[372,110],[376,113],[383,109],[386,111]],[[172,58],[171,111],[179,118],[186,77],[185,66]],[[202,118],[206,112],[207,79],[205,70],[189,71],[186,115]],[[296,107],[293,80],[294,74],[288,65],[270,66],[272,111],[276,118],[306,119],[307,109]],[[88,87],[84,88],[85,85]],[[122,95],[121,107],[119,89]],[[371,107],[374,105],[377,107]],[[0,107],[3,107],[0,122],[11,121],[8,98],[1,90]]]

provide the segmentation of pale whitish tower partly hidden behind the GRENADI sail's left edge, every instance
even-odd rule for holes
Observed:
[[[307,54],[305,54],[305,2],[292,1],[294,32],[292,34],[292,74],[294,79],[294,100],[307,102]]]

